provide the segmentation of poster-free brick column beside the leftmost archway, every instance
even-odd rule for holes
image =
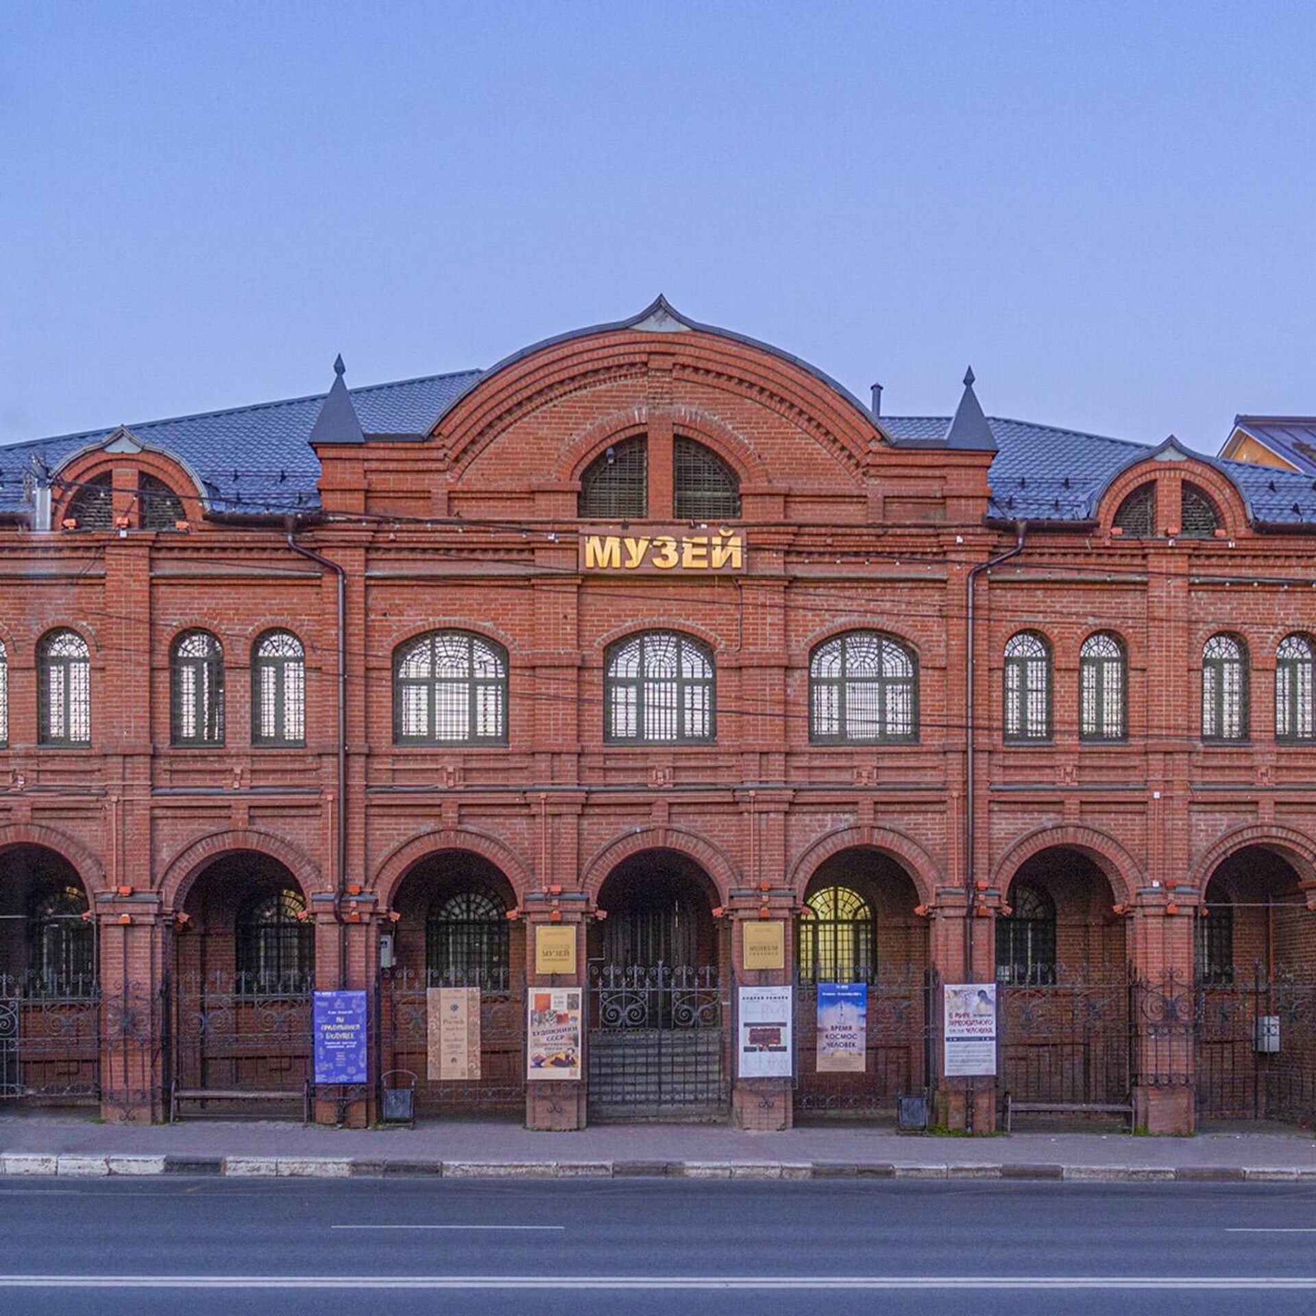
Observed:
[[[126,886],[99,891],[93,917],[100,940],[100,1028],[99,1037],[86,1042],[100,1048],[101,1119],[150,1124],[168,1112],[161,900],[153,891]]]

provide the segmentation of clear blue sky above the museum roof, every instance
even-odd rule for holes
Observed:
[[[28,4],[0,441],[665,292],[891,413],[1316,413],[1316,5]]]

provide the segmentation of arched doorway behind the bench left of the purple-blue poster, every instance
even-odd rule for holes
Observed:
[[[234,850],[197,874],[174,938],[167,1073],[183,1092],[245,1092],[271,1112],[311,1082],[315,925],[278,859]],[[195,1099],[208,1113],[233,1109]],[[213,1105],[213,1109],[212,1109]]]

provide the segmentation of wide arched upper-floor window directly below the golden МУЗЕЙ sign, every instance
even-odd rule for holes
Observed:
[[[650,630],[613,645],[604,659],[604,730],[645,745],[713,738],[713,655],[707,645]]]

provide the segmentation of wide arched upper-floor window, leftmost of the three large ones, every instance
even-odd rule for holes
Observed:
[[[399,745],[505,745],[507,650],[465,630],[408,640],[393,657]]]

